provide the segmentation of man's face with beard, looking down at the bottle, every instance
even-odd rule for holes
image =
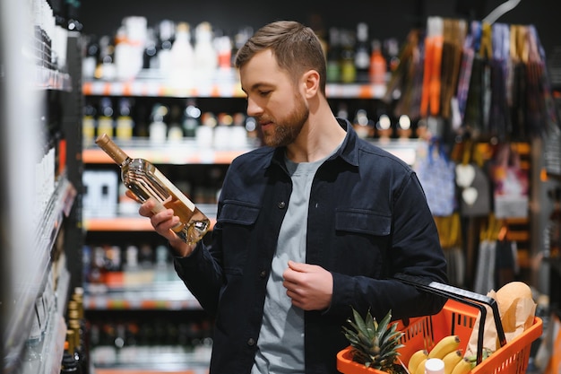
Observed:
[[[257,53],[240,68],[240,77],[247,94],[247,115],[261,126],[264,144],[277,147],[293,143],[306,124],[309,109],[272,52]]]

